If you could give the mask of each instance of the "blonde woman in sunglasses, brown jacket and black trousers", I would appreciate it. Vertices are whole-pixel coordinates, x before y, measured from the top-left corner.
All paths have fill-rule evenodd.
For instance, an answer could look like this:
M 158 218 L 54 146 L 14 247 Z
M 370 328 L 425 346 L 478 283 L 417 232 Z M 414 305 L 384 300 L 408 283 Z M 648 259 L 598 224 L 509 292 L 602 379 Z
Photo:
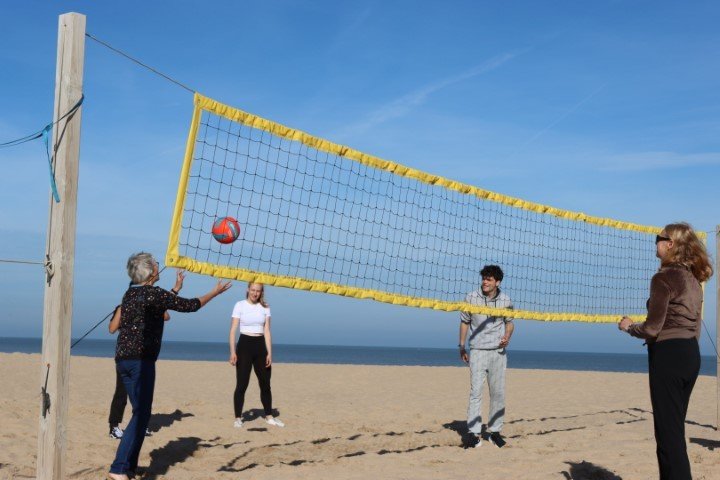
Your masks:
M 691 479 L 685 416 L 700 371 L 701 283 L 712 274 L 705 245 L 687 223 L 667 225 L 655 237 L 660 270 L 650 282 L 644 322 L 623 317 L 618 327 L 648 347 L 650 401 L 660 479 Z

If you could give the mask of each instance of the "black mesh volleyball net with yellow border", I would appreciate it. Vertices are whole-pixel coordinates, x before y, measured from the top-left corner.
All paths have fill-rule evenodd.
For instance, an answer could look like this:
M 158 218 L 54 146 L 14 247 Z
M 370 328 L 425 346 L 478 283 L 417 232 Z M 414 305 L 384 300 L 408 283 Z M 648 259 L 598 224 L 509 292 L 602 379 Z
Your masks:
M 268 285 L 546 320 L 644 318 L 659 227 L 483 190 L 195 94 L 165 263 Z M 237 219 L 239 238 L 214 240 Z M 499 265 L 513 311 L 465 302 Z

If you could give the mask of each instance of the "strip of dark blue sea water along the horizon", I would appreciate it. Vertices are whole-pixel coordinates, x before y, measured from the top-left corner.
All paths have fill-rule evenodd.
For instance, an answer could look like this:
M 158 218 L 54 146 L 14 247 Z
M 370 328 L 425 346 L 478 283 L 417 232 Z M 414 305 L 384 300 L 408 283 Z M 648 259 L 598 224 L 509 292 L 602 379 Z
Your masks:
M 0 337 L 0 352 L 40 353 L 39 338 Z M 83 340 L 72 355 L 107 357 L 115 355 L 114 340 Z M 160 359 L 208 360 L 225 362 L 227 343 L 163 342 Z M 407 347 L 349 347 L 333 345 L 273 345 L 273 361 L 277 363 L 329 363 L 348 365 L 411 365 L 447 367 L 463 364 L 456 349 Z M 582 370 L 600 372 L 647 372 L 644 353 L 582 353 L 509 350 L 509 368 L 543 370 Z M 702 357 L 701 375 L 716 372 L 715 358 Z

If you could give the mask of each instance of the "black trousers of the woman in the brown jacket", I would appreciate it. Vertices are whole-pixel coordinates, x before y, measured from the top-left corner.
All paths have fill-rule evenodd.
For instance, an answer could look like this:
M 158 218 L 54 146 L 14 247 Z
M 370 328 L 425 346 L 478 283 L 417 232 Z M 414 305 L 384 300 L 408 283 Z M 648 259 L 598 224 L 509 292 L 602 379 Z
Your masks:
M 689 480 L 685 416 L 700 371 L 700 349 L 694 338 L 648 345 L 650 400 L 661 480 Z

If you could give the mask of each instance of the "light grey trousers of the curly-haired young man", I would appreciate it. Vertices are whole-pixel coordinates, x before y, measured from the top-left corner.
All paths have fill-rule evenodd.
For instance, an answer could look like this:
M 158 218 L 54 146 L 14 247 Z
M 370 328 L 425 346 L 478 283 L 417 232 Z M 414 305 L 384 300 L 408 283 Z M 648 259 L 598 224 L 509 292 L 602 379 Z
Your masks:
M 482 430 L 482 393 L 485 378 L 490 391 L 490 419 L 488 432 L 499 432 L 505 417 L 505 349 L 470 350 L 470 400 L 468 402 L 468 430 L 480 435 Z

